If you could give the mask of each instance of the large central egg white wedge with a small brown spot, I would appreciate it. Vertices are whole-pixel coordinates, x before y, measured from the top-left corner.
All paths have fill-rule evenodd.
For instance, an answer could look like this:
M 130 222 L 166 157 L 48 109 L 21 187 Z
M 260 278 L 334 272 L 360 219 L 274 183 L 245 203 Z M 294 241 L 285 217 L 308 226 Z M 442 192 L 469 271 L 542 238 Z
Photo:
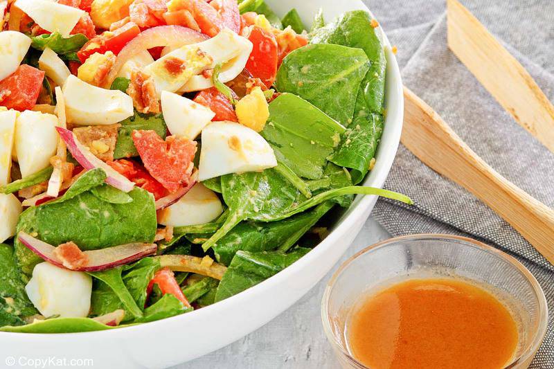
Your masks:
M 249 127 L 233 122 L 213 122 L 202 130 L 199 181 L 276 165 L 277 159 L 269 143 Z

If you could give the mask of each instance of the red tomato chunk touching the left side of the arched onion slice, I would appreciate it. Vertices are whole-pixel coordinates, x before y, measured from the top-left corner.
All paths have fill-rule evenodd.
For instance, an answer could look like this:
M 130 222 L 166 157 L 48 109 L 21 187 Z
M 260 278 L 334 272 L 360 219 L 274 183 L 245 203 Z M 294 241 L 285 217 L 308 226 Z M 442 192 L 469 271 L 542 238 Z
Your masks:
M 141 33 L 139 26 L 133 22 L 128 22 L 113 32 L 104 32 L 102 35 L 89 39 L 77 52 L 77 57 L 84 63 L 93 53 L 103 54 L 106 51 L 111 51 L 118 55 L 127 42 L 134 39 L 139 33 Z

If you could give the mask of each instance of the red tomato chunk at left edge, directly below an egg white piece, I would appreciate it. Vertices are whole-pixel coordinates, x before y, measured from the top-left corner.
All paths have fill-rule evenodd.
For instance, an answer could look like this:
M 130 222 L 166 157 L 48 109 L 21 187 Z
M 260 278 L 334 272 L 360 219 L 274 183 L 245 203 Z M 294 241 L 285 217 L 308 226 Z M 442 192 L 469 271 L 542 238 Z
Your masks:
M 0 81 L 0 105 L 24 111 L 37 103 L 44 72 L 22 64 L 14 73 Z

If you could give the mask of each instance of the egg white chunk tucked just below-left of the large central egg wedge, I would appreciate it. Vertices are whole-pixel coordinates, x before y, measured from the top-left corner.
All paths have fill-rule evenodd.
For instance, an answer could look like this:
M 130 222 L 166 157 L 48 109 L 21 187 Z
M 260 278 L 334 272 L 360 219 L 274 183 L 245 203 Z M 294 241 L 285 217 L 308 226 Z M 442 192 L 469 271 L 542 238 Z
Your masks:
M 193 226 L 211 222 L 223 213 L 220 198 L 202 183 L 181 197 L 177 203 L 160 210 L 158 223 L 164 226 Z

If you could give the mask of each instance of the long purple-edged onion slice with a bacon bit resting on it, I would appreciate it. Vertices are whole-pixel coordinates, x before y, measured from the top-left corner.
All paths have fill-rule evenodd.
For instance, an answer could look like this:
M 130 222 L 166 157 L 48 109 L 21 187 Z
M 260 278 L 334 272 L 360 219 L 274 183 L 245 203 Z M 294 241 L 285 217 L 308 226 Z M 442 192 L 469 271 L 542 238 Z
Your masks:
M 18 240 L 24 244 L 30 251 L 37 254 L 40 258 L 54 264 L 56 267 L 68 269 L 64 267 L 62 261 L 55 255 L 55 247 L 47 244 L 44 241 L 29 235 L 25 232 L 17 234 Z M 87 255 L 87 264 L 83 267 L 71 269 L 73 271 L 102 271 L 119 267 L 129 262 L 145 258 L 146 256 L 154 255 L 157 251 L 156 244 L 132 243 L 122 244 L 119 246 L 108 247 L 106 249 L 84 251 Z

